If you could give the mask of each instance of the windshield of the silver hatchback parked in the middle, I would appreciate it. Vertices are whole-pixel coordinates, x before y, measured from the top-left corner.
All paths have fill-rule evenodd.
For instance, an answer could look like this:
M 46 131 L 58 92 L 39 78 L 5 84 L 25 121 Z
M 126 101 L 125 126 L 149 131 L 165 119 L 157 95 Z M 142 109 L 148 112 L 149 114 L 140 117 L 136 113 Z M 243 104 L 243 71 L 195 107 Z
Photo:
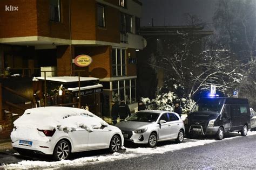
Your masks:
M 137 112 L 127 118 L 127 121 L 156 122 L 160 114 L 154 112 Z

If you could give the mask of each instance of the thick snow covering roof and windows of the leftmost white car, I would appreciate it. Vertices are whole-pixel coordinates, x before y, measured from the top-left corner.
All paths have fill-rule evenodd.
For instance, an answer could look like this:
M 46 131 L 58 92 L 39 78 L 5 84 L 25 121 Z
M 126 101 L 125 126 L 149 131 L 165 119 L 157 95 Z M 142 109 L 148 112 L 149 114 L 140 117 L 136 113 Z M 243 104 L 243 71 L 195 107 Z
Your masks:
M 16 128 L 31 128 L 39 130 L 76 130 L 84 128 L 89 132 L 108 125 L 103 119 L 91 112 L 69 107 L 42 107 L 28 109 L 15 122 Z

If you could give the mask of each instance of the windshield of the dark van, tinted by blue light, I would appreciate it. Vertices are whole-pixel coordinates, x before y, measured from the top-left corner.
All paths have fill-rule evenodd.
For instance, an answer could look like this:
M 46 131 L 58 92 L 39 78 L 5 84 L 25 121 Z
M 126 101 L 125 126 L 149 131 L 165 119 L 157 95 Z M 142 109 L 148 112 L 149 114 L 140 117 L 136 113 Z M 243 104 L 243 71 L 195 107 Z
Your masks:
M 191 112 L 200 112 L 203 114 L 220 114 L 223 104 L 223 98 L 200 98 L 200 100 L 194 105 Z

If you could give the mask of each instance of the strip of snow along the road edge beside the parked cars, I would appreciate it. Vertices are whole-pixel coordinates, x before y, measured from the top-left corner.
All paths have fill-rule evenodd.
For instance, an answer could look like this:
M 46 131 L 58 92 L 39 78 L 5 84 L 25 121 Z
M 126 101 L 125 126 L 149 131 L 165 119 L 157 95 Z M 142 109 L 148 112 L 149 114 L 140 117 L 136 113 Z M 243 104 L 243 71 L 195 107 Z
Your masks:
M 249 131 L 248 136 L 256 135 L 256 131 Z M 240 138 L 241 136 L 229 137 L 223 140 L 230 140 L 233 138 Z M 184 143 L 181 144 L 169 144 L 158 146 L 155 148 L 149 147 L 138 147 L 138 148 L 127 148 L 124 153 L 113 153 L 113 154 L 103 154 L 100 156 L 92 156 L 92 157 L 83 157 L 74 160 L 61 160 L 61 161 L 30 161 L 24 160 L 18 162 L 18 164 L 10 164 L 5 165 L 3 168 L 5 169 L 17 169 L 17 168 L 51 168 L 51 167 L 63 167 L 63 166 L 82 166 L 85 164 L 97 164 L 97 162 L 105 162 L 105 161 L 114 161 L 119 159 L 129 159 L 134 157 L 140 157 L 143 155 L 149 154 L 163 154 L 165 152 L 181 150 L 183 148 L 194 147 L 194 146 L 201 146 L 205 144 L 210 144 L 214 142 L 221 142 L 221 140 L 215 139 L 185 139 Z

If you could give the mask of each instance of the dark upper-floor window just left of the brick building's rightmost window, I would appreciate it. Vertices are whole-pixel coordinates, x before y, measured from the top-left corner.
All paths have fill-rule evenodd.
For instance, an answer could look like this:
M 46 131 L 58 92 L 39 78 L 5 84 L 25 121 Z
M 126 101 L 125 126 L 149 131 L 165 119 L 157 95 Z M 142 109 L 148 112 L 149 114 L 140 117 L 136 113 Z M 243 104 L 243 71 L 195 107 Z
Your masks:
M 120 16 L 120 32 L 125 34 L 132 33 L 132 16 L 121 13 Z

